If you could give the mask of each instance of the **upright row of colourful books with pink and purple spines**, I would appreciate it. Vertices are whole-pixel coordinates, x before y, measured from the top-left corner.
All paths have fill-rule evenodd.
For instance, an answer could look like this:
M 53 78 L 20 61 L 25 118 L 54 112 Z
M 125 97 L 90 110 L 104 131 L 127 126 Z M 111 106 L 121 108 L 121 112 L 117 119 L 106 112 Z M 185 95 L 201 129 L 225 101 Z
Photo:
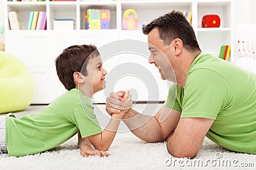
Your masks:
M 30 11 L 27 29 L 28 30 L 46 30 L 46 12 Z

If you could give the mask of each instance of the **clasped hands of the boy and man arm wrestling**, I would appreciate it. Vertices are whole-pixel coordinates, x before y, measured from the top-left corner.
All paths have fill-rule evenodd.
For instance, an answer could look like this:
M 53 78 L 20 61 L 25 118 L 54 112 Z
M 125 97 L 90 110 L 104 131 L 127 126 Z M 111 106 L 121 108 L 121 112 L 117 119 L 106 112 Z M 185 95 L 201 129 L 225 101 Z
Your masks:
M 132 97 L 129 90 L 112 92 L 106 99 L 106 111 L 109 115 L 113 113 L 125 113 L 132 107 Z

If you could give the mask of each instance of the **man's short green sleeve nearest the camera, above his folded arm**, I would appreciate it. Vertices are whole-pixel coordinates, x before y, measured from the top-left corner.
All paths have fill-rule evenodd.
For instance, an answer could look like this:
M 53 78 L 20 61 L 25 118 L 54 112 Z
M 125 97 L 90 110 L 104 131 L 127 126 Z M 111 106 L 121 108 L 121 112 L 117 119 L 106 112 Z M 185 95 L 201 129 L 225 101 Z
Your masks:
M 230 97 L 227 81 L 209 69 L 197 69 L 189 75 L 184 87 L 182 118 L 216 119 Z

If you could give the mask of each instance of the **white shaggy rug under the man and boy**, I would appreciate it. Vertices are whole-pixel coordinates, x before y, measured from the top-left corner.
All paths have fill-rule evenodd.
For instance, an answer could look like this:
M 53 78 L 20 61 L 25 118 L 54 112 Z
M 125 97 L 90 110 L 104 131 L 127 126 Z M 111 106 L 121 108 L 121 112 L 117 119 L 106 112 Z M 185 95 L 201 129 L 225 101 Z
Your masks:
M 166 143 L 146 143 L 131 132 L 117 133 L 109 157 L 81 157 L 77 136 L 47 152 L 25 157 L 0 155 L 0 169 L 255 169 L 256 155 L 229 152 L 205 138 L 194 159 L 177 159 Z

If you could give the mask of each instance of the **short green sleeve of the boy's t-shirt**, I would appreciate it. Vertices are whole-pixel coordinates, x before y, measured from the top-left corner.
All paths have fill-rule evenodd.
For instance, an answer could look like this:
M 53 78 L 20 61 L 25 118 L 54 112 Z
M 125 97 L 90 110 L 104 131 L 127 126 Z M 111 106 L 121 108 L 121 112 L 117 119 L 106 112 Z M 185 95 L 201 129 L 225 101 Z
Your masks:
M 76 124 L 82 138 L 99 134 L 102 129 L 96 115 L 93 113 L 93 106 L 90 104 L 77 105 L 70 114 L 71 121 Z

